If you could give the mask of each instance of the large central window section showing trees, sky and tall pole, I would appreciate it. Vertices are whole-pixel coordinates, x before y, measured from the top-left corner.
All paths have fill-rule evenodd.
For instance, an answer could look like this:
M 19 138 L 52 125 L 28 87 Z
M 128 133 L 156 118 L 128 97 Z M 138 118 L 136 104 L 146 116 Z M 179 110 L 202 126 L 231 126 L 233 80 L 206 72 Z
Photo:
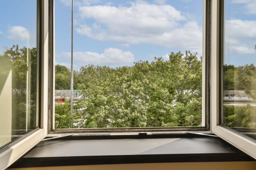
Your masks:
M 202 0 L 55 0 L 55 128 L 201 126 Z

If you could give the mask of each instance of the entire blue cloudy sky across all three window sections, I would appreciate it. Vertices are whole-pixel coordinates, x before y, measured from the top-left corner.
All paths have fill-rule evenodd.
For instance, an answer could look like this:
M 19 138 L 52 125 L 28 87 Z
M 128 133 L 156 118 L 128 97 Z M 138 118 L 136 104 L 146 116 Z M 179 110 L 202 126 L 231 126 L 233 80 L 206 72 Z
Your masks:
M 132 66 L 186 50 L 199 58 L 202 1 L 74 0 L 74 69 Z M 35 0 L 1 4 L 0 53 L 13 44 L 36 47 L 35 5 Z M 256 65 L 255 9 L 255 0 L 226 0 L 225 64 Z M 55 64 L 70 68 L 71 0 L 55 0 L 55 47 Z

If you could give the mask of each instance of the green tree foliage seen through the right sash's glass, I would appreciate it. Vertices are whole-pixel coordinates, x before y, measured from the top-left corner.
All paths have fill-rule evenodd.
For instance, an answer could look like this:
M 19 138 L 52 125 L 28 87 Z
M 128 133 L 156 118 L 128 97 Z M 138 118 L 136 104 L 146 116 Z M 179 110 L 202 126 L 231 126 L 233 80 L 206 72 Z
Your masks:
M 224 65 L 223 83 L 224 90 L 243 90 L 248 97 L 256 100 L 256 67 L 253 64 L 238 67 Z M 250 103 L 247 106 L 224 105 L 223 116 L 226 126 L 256 128 L 256 107 Z

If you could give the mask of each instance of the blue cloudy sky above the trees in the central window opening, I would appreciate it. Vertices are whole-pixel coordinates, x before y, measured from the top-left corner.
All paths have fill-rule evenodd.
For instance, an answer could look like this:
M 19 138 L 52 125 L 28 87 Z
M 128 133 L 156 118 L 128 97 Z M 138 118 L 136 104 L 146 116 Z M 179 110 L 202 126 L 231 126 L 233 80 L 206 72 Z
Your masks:
M 202 54 L 202 0 L 74 3 L 75 69 L 86 64 L 131 66 L 139 60 L 152 61 L 154 56 L 167 58 L 172 51 Z M 56 64 L 68 67 L 70 8 L 70 0 L 55 1 Z

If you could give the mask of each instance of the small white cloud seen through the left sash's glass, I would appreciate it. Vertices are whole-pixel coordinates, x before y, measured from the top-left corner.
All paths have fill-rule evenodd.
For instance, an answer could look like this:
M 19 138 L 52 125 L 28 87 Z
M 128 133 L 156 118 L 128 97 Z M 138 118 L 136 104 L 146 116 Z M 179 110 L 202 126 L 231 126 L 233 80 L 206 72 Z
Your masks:
M 9 35 L 7 36 L 9 39 L 21 40 L 24 41 L 30 37 L 29 32 L 25 27 L 22 26 L 12 26 L 8 29 Z

